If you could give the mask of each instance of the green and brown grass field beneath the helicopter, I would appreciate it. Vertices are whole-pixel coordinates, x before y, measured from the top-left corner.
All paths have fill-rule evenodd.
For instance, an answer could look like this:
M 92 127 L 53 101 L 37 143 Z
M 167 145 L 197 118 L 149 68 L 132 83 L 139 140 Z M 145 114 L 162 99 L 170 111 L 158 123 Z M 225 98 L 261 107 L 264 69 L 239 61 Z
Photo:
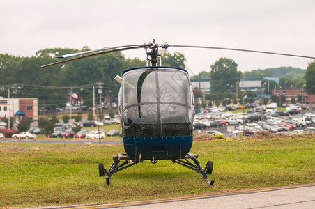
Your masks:
M 98 176 L 123 145 L 0 143 L 0 208 L 105 203 L 315 182 L 315 139 L 293 137 L 242 141 L 194 141 L 203 166 L 214 163 L 215 185 L 170 160 L 140 164 Z

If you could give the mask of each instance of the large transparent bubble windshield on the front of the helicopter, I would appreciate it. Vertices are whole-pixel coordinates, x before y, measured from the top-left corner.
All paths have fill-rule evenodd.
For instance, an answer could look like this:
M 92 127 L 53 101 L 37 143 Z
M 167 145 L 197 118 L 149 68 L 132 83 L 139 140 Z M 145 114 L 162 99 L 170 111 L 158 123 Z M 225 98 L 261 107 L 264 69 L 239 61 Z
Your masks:
M 129 137 L 192 134 L 188 75 L 174 68 L 141 68 L 123 75 L 123 129 Z

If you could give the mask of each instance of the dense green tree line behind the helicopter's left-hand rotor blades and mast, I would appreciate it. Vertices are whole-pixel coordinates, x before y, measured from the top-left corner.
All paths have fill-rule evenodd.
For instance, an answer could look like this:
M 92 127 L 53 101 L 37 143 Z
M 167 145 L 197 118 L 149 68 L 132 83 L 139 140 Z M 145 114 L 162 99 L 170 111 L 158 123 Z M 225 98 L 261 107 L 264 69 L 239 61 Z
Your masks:
M 4 98 L 38 98 L 39 107 L 65 107 L 70 100 L 70 90 L 78 95 L 77 100 L 92 107 L 92 86 L 97 95 L 98 82 L 102 82 L 103 97 L 116 97 L 119 86 L 114 77 L 128 68 L 146 66 L 141 59 L 125 59 L 121 52 L 72 61 L 63 65 L 40 68 L 54 63 L 54 56 L 90 50 L 54 48 L 43 49 L 35 56 L 21 57 L 0 54 L 0 95 Z M 185 56 L 178 52 L 162 53 L 163 65 L 185 68 Z M 72 98 L 76 100 L 75 98 Z

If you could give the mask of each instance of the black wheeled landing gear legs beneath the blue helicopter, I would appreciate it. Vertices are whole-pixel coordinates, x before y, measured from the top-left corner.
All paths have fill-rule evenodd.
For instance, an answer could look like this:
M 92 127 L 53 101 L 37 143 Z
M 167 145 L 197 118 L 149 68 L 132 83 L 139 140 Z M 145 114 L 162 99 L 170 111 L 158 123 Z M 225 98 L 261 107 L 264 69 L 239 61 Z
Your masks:
M 188 153 L 184 157 L 185 161 L 181 160 L 181 159 L 172 159 L 171 161 L 173 163 L 180 164 L 183 167 L 186 167 L 187 169 L 191 169 L 192 171 L 196 171 L 197 173 L 200 173 L 201 176 L 203 176 L 203 179 L 206 180 L 206 183 L 208 185 L 213 185 L 215 183 L 215 180 L 209 181 L 208 177 L 207 177 L 207 174 L 211 174 L 213 171 L 213 162 L 208 161 L 205 169 L 203 169 L 203 167 L 201 167 L 200 162 L 197 160 L 197 157 L 198 157 L 197 155 L 194 155 L 192 153 Z M 117 173 L 118 171 L 122 171 L 124 169 L 128 169 L 129 167 L 132 167 L 133 165 L 142 161 L 142 160 L 141 161 L 140 160 L 132 160 L 126 154 L 115 155 L 115 156 L 113 156 L 113 160 L 114 160 L 114 162 L 112 163 L 109 171 L 104 169 L 104 164 L 102 164 L 102 163 L 98 164 L 98 172 L 99 172 L 100 176 L 107 175 L 106 176 L 106 184 L 107 185 L 109 185 L 110 178 L 112 177 L 112 175 L 114 173 Z M 124 162 L 121 163 L 121 161 L 123 161 L 123 160 L 124 160 Z M 194 162 L 194 164 L 192 164 L 192 162 L 190 162 L 189 160 L 192 160 Z M 131 164 L 128 164 L 130 162 L 131 162 Z M 151 162 L 156 163 L 157 160 L 156 160 L 156 162 L 151 160 Z

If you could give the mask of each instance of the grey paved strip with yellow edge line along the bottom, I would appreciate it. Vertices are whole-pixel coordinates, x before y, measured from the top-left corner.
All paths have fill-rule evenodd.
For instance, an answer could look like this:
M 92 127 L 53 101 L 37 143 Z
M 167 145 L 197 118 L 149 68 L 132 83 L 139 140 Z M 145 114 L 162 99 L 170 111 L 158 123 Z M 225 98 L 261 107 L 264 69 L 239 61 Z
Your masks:
M 130 201 L 65 208 L 125 208 L 125 209 L 188 209 L 188 208 L 315 208 L 315 183 L 254 189 L 225 194 L 185 196 L 150 201 Z

